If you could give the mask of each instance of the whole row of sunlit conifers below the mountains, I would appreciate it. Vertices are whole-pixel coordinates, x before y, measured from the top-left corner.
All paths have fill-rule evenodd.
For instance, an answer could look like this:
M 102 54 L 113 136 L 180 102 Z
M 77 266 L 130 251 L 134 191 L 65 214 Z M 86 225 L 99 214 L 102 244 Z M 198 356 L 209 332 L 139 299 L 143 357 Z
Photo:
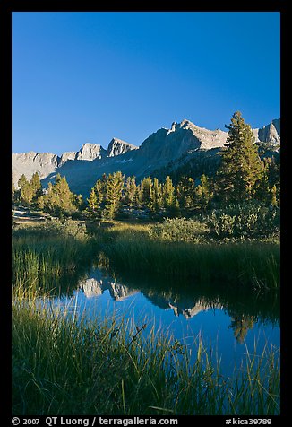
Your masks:
M 226 147 L 222 151 L 215 176 L 202 174 L 200 179 L 182 176 L 177 184 L 167 176 L 162 182 L 146 177 L 125 177 L 121 171 L 104 174 L 83 200 L 70 190 L 65 177 L 59 174 L 46 190 L 38 173 L 30 181 L 24 175 L 13 187 L 13 202 L 37 207 L 51 213 L 83 212 L 91 217 L 113 219 L 121 209 L 133 213 L 148 212 L 153 217 L 187 215 L 206 211 L 214 205 L 230 205 L 253 200 L 264 205 L 279 206 L 279 162 L 273 157 L 261 159 L 251 126 L 245 124 L 239 111 L 231 118 Z

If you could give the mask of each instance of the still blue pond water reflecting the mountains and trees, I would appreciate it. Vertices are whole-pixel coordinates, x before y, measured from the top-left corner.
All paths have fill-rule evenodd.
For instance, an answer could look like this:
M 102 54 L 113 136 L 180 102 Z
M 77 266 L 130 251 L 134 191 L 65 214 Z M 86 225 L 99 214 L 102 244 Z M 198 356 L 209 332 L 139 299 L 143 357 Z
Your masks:
M 107 274 L 92 268 L 51 298 L 69 316 L 99 322 L 130 321 L 133 327 L 167 331 L 189 349 L 198 335 L 230 375 L 245 354 L 279 348 L 279 294 L 238 290 L 224 283 L 179 282 L 145 275 Z M 193 352 L 193 362 L 195 352 Z

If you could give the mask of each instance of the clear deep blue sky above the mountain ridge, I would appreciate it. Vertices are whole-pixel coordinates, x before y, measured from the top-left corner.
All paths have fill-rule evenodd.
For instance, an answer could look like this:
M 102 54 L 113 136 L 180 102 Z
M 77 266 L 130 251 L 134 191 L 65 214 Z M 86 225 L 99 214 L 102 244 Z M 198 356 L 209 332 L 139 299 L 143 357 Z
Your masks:
M 279 13 L 13 13 L 13 152 L 279 118 Z

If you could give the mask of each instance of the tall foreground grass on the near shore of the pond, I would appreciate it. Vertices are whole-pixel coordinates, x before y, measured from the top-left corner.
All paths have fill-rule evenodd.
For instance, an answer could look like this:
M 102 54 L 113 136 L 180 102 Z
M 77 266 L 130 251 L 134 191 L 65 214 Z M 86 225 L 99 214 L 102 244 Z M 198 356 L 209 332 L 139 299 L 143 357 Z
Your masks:
M 142 325 L 114 319 L 76 324 L 37 298 L 13 290 L 14 415 L 279 414 L 274 349 L 247 354 L 224 378 L 199 337 L 191 365 L 170 335 L 149 331 L 145 340 Z

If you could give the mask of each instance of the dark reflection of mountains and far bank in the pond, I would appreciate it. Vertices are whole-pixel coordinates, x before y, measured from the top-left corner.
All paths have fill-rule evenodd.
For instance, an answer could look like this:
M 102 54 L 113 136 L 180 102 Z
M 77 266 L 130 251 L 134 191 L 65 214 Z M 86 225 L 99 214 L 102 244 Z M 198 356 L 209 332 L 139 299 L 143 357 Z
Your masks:
M 86 298 L 96 298 L 108 291 L 113 301 L 125 301 L 142 293 L 151 305 L 172 309 L 176 317 L 193 318 L 202 311 L 221 309 L 232 318 L 231 327 L 243 319 L 246 323 L 247 318 L 252 319 L 251 324 L 260 321 L 279 326 L 279 292 L 245 292 L 235 288 L 222 283 L 177 283 L 150 275 L 110 275 L 99 269 L 92 269 L 77 286 Z

